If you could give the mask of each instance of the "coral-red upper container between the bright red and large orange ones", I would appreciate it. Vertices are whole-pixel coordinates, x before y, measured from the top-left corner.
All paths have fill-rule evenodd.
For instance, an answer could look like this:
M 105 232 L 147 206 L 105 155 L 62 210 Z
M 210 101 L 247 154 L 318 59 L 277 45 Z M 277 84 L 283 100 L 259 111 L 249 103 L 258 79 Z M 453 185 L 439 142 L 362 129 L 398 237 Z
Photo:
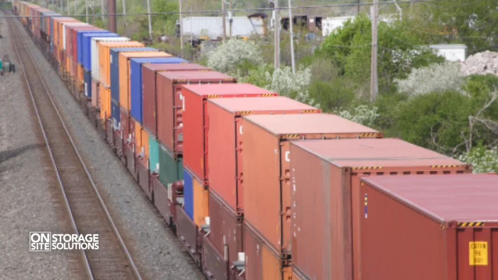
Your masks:
M 216 154 L 209 157 L 209 187 L 239 214 L 244 209 L 242 116 L 322 112 L 284 96 L 210 99 L 207 109 L 208 154 Z

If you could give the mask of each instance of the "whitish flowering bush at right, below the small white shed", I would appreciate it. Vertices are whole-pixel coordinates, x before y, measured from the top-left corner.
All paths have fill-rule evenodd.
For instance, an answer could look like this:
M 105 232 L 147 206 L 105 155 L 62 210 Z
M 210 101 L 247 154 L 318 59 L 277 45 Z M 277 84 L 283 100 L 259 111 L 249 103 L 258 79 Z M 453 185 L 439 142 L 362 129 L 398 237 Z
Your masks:
M 465 74 L 457 63 L 446 62 L 413 69 L 404 80 L 394 79 L 400 92 L 420 95 L 435 91 L 462 91 Z

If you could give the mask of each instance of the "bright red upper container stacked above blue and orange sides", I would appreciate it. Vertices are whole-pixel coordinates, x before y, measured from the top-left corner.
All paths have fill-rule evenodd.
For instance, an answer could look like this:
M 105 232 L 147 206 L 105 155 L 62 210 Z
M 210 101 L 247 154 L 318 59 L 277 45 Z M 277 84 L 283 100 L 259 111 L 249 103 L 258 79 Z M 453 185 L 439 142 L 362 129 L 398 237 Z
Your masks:
M 251 84 L 184 85 L 183 106 L 183 165 L 208 185 L 208 98 L 262 97 L 278 94 Z M 160 109 L 159 109 L 160 110 Z

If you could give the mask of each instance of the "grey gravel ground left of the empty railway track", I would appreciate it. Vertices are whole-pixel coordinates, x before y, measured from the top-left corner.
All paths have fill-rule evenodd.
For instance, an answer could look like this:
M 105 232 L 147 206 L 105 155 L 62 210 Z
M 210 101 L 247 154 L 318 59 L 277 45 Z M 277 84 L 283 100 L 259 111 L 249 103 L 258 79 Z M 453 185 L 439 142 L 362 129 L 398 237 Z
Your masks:
M 29 232 L 73 232 L 5 20 L 1 28 L 0 58 L 16 72 L 0 76 L 0 279 L 84 279 L 78 252 L 29 251 Z

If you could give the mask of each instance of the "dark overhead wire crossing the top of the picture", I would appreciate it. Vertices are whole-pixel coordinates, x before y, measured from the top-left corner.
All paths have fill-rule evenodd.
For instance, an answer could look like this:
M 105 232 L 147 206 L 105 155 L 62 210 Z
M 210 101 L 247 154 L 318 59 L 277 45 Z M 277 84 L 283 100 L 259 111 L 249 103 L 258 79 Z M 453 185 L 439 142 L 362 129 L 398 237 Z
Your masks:
M 423 2 L 440 2 L 441 0 L 397 0 L 397 1 L 387 1 L 382 2 L 382 4 L 395 4 L 395 3 L 423 3 Z M 342 3 L 342 4 L 329 4 L 329 5 L 311 5 L 311 6 L 292 6 L 291 9 L 316 9 L 316 8 L 333 8 L 333 7 L 355 7 L 355 6 L 371 6 L 373 3 Z M 278 7 L 278 8 L 241 8 L 241 9 L 231 9 L 231 11 L 272 11 L 272 10 L 288 10 L 289 7 Z M 182 11 L 182 14 L 193 14 L 193 13 L 221 13 L 223 10 L 197 10 L 197 11 Z M 158 15 L 158 14 L 179 14 L 179 11 L 168 11 L 168 12 L 143 12 L 143 13 L 94 13 L 89 15 Z M 74 15 L 60 15 L 60 17 L 73 17 L 73 16 L 86 16 L 85 14 L 74 14 Z M 35 15 L 35 16 L 18 16 L 18 15 L 2 15 L 1 17 L 46 17 L 43 15 Z

